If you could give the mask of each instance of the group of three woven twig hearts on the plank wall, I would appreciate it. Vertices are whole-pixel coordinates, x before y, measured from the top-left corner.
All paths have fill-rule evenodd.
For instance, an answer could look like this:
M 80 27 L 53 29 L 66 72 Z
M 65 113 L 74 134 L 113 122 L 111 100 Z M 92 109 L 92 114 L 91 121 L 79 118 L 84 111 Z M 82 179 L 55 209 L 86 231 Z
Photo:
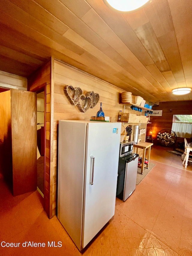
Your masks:
M 89 108 L 94 108 L 99 101 L 99 94 L 95 92 L 86 92 L 85 95 L 80 87 L 74 88 L 72 85 L 67 85 L 64 88 L 64 93 L 72 105 L 85 113 Z

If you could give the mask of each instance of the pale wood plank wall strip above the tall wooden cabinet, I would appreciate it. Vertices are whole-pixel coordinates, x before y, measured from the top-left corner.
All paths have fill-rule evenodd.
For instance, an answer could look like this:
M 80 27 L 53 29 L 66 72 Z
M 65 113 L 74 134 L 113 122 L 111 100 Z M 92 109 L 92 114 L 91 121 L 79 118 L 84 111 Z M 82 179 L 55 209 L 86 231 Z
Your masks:
M 27 91 L 27 78 L 0 71 L 0 87 Z

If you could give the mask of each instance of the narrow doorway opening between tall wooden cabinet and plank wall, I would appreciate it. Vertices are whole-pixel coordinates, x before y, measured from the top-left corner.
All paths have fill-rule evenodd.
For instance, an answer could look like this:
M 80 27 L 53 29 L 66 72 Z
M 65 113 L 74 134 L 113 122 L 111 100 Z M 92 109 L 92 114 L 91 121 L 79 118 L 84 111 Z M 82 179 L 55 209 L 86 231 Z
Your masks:
M 37 92 L 37 190 L 44 197 L 45 92 Z

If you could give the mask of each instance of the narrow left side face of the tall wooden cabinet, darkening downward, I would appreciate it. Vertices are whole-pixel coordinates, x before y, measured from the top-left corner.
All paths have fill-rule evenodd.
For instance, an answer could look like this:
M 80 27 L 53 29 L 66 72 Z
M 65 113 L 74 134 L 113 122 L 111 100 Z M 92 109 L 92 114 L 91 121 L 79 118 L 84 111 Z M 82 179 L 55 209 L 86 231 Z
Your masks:
M 0 93 L 0 171 L 12 189 L 13 171 L 10 90 Z

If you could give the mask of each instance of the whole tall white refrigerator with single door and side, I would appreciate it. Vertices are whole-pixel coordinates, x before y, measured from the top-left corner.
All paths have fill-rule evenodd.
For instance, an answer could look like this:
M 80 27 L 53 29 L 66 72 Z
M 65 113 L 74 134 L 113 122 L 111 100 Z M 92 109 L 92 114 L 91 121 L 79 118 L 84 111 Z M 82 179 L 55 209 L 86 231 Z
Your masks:
M 115 213 L 121 123 L 58 129 L 58 219 L 81 251 Z

